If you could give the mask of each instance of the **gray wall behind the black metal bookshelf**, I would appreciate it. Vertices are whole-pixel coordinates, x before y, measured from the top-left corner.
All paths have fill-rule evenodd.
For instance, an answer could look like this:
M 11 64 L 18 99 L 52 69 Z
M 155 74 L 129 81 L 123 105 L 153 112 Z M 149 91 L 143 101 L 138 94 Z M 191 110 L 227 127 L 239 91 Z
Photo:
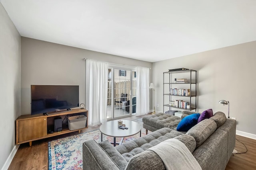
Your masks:
M 184 49 L 186 49 L 184 47 Z M 212 108 L 236 117 L 237 130 L 256 134 L 256 41 L 153 63 L 156 104 L 163 111 L 163 72 L 172 68 L 198 71 L 198 111 Z M 165 103 L 167 104 L 167 103 Z

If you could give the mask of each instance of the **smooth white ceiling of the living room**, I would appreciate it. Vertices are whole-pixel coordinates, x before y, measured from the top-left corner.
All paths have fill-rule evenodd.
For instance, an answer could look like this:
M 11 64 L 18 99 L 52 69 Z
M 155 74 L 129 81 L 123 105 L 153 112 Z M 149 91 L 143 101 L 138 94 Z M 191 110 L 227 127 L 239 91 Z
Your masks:
M 0 0 L 23 37 L 156 62 L 256 40 L 256 0 Z

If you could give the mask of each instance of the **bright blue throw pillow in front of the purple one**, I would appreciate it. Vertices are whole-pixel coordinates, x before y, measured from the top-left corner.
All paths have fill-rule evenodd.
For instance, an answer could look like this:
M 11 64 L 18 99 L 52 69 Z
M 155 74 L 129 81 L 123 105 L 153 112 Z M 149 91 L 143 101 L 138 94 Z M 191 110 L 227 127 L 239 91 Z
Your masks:
M 188 131 L 191 127 L 196 125 L 200 113 L 194 113 L 184 117 L 177 126 L 177 131 Z

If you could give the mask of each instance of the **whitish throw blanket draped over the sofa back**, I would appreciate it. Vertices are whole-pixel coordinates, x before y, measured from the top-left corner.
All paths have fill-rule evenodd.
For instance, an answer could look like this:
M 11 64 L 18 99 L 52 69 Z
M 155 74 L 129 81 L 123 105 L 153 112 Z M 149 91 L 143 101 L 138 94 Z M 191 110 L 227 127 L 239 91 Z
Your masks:
M 167 139 L 148 150 L 158 154 L 166 170 L 202 170 L 186 145 L 178 139 Z

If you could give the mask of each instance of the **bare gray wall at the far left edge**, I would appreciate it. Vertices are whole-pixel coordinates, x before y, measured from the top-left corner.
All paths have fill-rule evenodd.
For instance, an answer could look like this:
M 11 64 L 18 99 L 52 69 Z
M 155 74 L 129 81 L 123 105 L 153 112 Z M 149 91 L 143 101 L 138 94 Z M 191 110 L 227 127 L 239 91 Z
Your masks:
M 20 34 L 0 3 L 0 169 L 15 145 L 20 115 Z

